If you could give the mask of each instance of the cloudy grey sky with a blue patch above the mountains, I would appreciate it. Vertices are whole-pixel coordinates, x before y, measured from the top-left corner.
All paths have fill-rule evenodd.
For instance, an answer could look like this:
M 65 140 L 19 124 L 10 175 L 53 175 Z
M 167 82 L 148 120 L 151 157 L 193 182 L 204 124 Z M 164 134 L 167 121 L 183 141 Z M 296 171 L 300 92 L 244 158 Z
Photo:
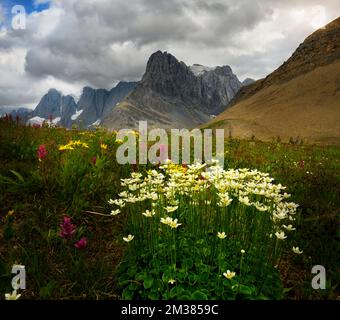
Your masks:
M 0 107 L 139 80 L 157 50 L 259 79 L 339 15 L 339 0 L 0 0 Z

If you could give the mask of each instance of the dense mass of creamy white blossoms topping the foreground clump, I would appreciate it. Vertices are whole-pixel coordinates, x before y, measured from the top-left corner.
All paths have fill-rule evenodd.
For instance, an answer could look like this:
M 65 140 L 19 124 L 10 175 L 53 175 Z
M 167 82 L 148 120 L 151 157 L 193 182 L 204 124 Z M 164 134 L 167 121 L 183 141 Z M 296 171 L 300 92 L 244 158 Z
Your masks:
M 109 201 L 118 207 L 112 215 L 118 214 L 128 203 L 151 201 L 152 211 L 143 212 L 144 217 L 151 218 L 155 215 L 154 208 L 162 203 L 157 211 L 161 223 L 177 228 L 181 225 L 178 220 L 167 215 L 179 210 L 179 198 L 186 198 L 187 204 L 194 207 L 216 203 L 221 210 L 226 210 L 234 203 L 234 206 L 269 214 L 274 225 L 272 232 L 279 240 L 287 238 L 283 230 L 295 230 L 291 222 L 295 220 L 298 205 L 286 201 L 290 195 L 284 192 L 285 187 L 274 184 L 267 173 L 250 169 L 224 170 L 217 162 L 210 166 L 200 163 L 180 166 L 170 160 L 160 169 L 149 170 L 145 177 L 134 172 L 130 178 L 121 179 L 125 190 L 119 194 L 119 199 Z M 218 236 L 223 239 L 226 234 Z

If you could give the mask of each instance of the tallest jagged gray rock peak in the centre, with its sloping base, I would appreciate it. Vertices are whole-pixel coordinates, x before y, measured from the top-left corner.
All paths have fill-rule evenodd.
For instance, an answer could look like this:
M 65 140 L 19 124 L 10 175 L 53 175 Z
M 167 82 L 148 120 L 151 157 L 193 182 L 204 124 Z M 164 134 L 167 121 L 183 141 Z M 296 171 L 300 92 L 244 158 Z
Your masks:
M 109 128 L 190 128 L 225 109 L 242 84 L 229 66 L 188 67 L 167 52 L 151 55 L 142 81 L 107 117 Z

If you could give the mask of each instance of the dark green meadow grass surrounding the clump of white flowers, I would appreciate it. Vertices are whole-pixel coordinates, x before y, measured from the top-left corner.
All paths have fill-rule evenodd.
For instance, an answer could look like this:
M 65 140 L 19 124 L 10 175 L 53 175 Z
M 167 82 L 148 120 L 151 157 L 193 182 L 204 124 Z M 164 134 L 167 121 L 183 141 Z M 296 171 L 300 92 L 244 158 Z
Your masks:
M 89 148 L 59 151 L 59 146 L 70 140 L 86 142 Z M 38 161 L 41 144 L 48 154 Z M 24 299 L 121 299 L 139 290 L 145 279 L 149 286 L 151 280 L 143 265 L 139 264 L 140 270 L 136 271 L 139 280 L 136 272 L 130 278 L 121 276 L 121 270 L 128 268 L 124 261 L 136 257 L 122 240 L 129 226 L 127 216 L 111 217 L 107 201 L 118 198 L 123 190 L 121 178 L 133 171 L 145 173 L 151 166 L 118 165 L 116 148 L 114 135 L 101 130 L 84 133 L 0 122 L 1 298 L 11 291 L 13 264 L 26 266 Z M 287 186 L 291 201 L 300 205 L 294 241 L 304 253 L 282 257 L 279 275 L 286 288 L 284 298 L 336 299 L 340 294 L 340 148 L 226 140 L 225 150 L 226 169 L 268 172 L 275 183 Z M 10 210 L 14 214 L 7 216 Z M 71 241 L 59 236 L 59 224 L 65 215 L 72 217 L 77 227 Z M 83 236 L 88 238 L 88 246 L 75 249 L 74 243 Z M 314 265 L 327 270 L 326 290 L 311 287 Z M 135 289 L 131 287 L 124 293 L 122 283 L 132 278 L 137 279 L 131 284 Z M 190 281 L 198 291 L 190 294 L 206 295 L 207 289 L 197 283 L 200 279 L 192 275 Z M 208 281 L 213 286 L 209 276 Z M 173 290 L 171 294 L 172 288 L 166 289 L 168 298 L 180 294 L 191 297 L 186 288 L 184 293 L 176 289 L 178 292 Z M 144 298 L 156 298 L 148 294 Z

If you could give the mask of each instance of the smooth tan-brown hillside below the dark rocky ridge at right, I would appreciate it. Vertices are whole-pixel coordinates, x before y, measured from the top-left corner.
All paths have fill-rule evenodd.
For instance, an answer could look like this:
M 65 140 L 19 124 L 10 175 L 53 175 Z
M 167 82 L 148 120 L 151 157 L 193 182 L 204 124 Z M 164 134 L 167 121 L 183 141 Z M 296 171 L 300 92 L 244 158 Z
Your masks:
M 208 124 L 239 138 L 340 143 L 340 61 L 241 100 Z

